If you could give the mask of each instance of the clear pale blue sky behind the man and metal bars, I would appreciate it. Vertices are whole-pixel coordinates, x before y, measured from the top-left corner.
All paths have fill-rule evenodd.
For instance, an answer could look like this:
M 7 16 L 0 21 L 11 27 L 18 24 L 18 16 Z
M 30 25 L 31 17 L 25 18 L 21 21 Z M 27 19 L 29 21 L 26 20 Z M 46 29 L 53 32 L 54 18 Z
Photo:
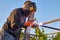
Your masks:
M 15 8 L 21 8 L 26 0 L 0 0 L 0 29 L 7 20 L 11 11 Z M 60 18 L 60 0 L 30 0 L 36 3 L 37 11 L 35 18 L 38 22 L 46 22 L 56 18 Z M 60 28 L 60 21 L 47 24 L 48 26 Z M 42 27 L 40 27 L 42 28 Z M 45 33 L 57 32 L 44 28 Z

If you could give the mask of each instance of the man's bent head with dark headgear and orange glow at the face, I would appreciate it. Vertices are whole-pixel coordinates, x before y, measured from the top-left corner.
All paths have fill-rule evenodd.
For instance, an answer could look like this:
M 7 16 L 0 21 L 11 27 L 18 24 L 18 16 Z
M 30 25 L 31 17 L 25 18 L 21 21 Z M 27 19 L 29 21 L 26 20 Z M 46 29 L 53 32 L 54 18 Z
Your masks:
M 23 9 L 28 10 L 30 12 L 36 12 L 36 4 L 31 1 L 26 1 L 23 5 Z

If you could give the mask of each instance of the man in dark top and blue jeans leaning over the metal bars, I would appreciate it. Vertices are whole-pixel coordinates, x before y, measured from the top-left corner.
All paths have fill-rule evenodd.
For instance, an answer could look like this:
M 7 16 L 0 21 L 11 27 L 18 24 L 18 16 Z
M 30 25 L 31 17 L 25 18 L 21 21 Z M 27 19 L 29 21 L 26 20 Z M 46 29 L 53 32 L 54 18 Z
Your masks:
M 33 19 L 34 12 L 36 12 L 36 4 L 31 1 L 26 1 L 22 8 L 14 9 L 3 25 L 2 40 L 19 40 L 21 28 L 31 24 L 27 25 L 26 18 L 28 17 L 28 21 Z

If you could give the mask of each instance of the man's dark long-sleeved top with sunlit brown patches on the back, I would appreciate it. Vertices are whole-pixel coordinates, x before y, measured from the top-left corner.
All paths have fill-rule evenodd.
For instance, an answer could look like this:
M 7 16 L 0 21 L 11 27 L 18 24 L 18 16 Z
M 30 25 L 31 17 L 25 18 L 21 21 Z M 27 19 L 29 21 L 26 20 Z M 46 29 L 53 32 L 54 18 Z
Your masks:
M 6 32 L 12 34 L 15 37 L 19 37 L 21 27 L 24 27 L 26 15 L 22 8 L 17 8 L 11 12 L 7 21 L 3 25 Z

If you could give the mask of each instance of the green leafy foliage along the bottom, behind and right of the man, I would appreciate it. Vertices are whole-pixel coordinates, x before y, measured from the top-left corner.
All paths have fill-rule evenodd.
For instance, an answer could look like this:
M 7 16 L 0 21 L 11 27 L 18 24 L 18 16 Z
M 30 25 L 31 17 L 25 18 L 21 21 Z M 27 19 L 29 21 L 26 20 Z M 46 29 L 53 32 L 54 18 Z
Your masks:
M 44 29 L 40 30 L 39 28 L 33 28 L 35 30 L 35 34 L 30 35 L 30 40 L 47 40 L 47 35 L 44 34 Z M 24 33 L 21 31 L 20 40 L 23 40 Z M 51 38 L 52 40 L 60 40 L 60 33 Z

